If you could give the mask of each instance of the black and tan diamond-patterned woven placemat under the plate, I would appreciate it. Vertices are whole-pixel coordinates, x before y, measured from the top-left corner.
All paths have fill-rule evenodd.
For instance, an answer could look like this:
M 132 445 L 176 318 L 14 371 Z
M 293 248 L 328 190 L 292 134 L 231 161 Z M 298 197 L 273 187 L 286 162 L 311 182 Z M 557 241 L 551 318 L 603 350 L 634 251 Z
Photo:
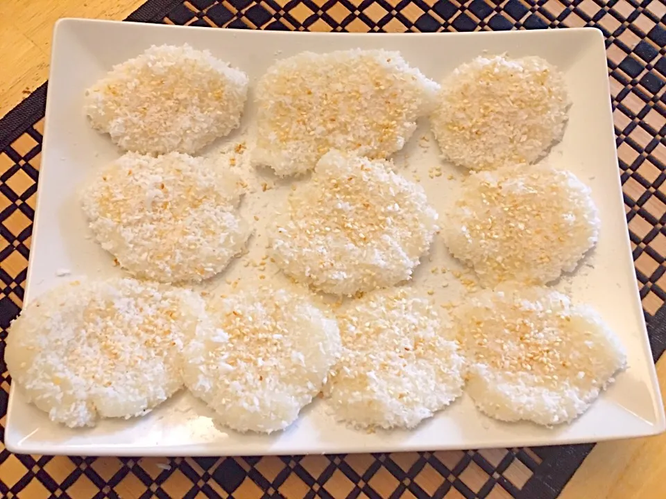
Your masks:
M 133 21 L 357 32 L 595 26 L 606 37 L 636 274 L 656 360 L 666 342 L 666 5 L 663 0 L 150 0 Z M 46 85 L 0 120 L 0 358 L 22 304 Z M 0 432 L 10 378 L 0 360 Z M 45 457 L 0 449 L 0 496 L 555 498 L 592 448 L 240 458 Z

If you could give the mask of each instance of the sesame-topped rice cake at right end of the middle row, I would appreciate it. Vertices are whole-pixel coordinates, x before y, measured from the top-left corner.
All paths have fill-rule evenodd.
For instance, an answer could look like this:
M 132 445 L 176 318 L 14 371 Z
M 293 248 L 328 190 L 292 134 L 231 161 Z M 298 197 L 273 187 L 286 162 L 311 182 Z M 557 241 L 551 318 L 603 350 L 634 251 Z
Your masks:
M 450 252 L 486 286 L 543 284 L 572 272 L 601 224 L 590 188 L 544 164 L 472 173 L 443 220 Z

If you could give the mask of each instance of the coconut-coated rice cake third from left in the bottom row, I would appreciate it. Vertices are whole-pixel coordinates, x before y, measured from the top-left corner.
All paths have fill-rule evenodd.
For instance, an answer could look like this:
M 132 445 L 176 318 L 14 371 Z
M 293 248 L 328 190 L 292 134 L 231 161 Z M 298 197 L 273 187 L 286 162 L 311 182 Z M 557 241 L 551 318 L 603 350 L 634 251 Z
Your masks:
M 462 394 L 465 362 L 425 298 L 381 290 L 338 317 L 343 351 L 327 386 L 334 417 L 355 428 L 414 428 Z

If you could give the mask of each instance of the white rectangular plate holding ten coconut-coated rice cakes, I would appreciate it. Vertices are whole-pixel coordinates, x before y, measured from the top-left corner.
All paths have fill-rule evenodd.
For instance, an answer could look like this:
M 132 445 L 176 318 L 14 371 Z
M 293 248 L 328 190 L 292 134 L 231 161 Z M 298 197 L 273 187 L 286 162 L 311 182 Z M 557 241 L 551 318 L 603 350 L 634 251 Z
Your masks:
M 572 170 L 592 187 L 602 220 L 597 249 L 574 276 L 562 279 L 558 288 L 569 292 L 574 301 L 594 306 L 603 315 L 626 346 L 629 369 L 618 376 L 617 383 L 586 414 L 568 426 L 548 429 L 530 423 L 501 423 L 481 415 L 472 401 L 463 396 L 416 430 L 373 434 L 334 423 L 322 401 L 317 400 L 284 432 L 270 436 L 239 435 L 214 426 L 210 411 L 186 392 L 140 419 L 102 421 L 96 428 L 70 430 L 51 423 L 46 414 L 26 403 L 20 389 L 12 385 L 5 433 L 8 449 L 17 453 L 70 455 L 350 453 L 565 444 L 653 435 L 665 428 L 624 219 L 606 52 L 597 30 L 341 35 L 62 20 L 56 26 L 53 42 L 26 301 L 56 286 L 62 279 L 56 277 L 59 269 L 91 277 L 120 272 L 113 267 L 112 257 L 90 238 L 78 206 L 76 193 L 89 172 L 120 155 L 108 136 L 94 132 L 86 123 L 83 92 L 113 64 L 138 55 L 152 44 L 165 43 L 188 43 L 197 49 L 208 49 L 246 71 L 252 82 L 274 60 L 305 49 L 398 50 L 409 63 L 435 80 L 441 80 L 454 67 L 484 51 L 506 52 L 511 57 L 540 55 L 555 64 L 565 73 L 573 105 L 565 138 L 549 159 L 556 166 Z M 249 103 L 241 131 L 254 112 L 253 104 Z M 405 161 L 409 163 L 407 167 L 401 166 L 408 177 L 415 175 L 416 170 L 430 201 L 441 209 L 447 194 L 459 185 L 462 173 L 443 165 L 444 175 L 429 179 L 427 170 L 439 161 L 433 141 L 423 147 L 425 141 L 420 140 L 428 133 L 426 121 L 396 162 L 399 166 Z M 449 175 L 456 180 L 449 180 Z M 248 206 L 252 205 L 249 202 Z M 259 249 L 253 249 L 253 254 L 264 252 L 262 246 L 257 241 L 255 247 Z M 434 280 L 429 265 L 456 266 L 441 240 L 434 243 L 432 254 L 434 262 L 425 262 L 419 269 L 417 288 L 441 284 Z M 222 280 L 215 283 L 241 277 L 243 272 L 248 270 L 232 265 Z M 436 287 L 436 300 L 461 296 L 461 286 L 454 281 L 447 288 Z

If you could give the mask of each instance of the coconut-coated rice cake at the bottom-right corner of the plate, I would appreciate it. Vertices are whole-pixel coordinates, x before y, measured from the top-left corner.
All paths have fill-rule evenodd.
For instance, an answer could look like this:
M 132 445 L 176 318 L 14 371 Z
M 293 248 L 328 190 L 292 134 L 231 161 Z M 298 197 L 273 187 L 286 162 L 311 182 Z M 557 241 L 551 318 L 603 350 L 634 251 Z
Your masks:
M 453 314 L 470 362 L 466 391 L 502 421 L 569 423 L 626 367 L 595 310 L 549 288 L 485 290 Z

